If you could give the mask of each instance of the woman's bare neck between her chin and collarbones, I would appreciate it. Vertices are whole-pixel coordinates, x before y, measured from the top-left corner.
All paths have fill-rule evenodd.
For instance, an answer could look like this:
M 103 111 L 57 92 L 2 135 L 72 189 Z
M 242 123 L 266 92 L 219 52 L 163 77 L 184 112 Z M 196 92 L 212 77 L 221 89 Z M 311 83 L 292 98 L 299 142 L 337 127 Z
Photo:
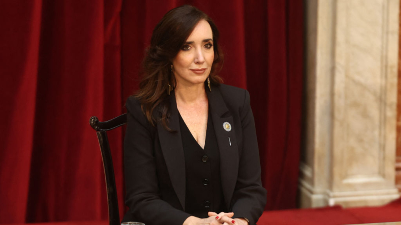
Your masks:
M 205 85 L 191 85 L 191 86 L 180 86 L 174 90 L 176 99 L 186 104 L 196 103 L 207 99 L 205 92 Z

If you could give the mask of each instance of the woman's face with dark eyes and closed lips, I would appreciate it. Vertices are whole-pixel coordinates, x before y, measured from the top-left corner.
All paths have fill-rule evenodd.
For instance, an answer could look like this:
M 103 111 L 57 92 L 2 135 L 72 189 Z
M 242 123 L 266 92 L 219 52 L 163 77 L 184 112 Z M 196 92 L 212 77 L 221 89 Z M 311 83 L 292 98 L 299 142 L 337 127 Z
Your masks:
M 201 20 L 173 59 L 177 87 L 203 84 L 209 76 L 213 60 L 212 29 L 207 21 Z

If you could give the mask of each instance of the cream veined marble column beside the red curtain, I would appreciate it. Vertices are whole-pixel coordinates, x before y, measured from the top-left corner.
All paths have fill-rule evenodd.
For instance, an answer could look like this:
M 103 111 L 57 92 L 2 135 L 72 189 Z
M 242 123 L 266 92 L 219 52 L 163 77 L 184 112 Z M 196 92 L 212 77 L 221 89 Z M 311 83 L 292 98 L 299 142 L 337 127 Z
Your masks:
M 399 0 L 306 0 L 305 11 L 301 207 L 396 199 Z

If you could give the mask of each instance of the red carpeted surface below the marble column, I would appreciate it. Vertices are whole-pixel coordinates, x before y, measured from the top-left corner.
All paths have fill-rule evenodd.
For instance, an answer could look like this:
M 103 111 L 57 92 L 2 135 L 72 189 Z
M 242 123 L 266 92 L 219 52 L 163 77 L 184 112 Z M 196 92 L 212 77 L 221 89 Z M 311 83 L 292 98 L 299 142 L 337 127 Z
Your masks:
M 266 211 L 258 225 L 338 225 L 401 221 L 401 199 L 381 207 L 342 208 L 341 206 Z

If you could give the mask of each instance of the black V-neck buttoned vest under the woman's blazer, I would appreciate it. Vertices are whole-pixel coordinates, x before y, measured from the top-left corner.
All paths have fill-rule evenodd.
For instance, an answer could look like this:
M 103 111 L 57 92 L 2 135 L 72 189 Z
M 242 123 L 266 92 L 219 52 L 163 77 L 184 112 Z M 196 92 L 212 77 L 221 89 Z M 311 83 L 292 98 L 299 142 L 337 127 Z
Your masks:
M 180 130 L 185 155 L 185 211 L 199 218 L 207 212 L 226 211 L 220 179 L 220 154 L 209 112 L 204 149 L 192 136 L 181 115 Z

